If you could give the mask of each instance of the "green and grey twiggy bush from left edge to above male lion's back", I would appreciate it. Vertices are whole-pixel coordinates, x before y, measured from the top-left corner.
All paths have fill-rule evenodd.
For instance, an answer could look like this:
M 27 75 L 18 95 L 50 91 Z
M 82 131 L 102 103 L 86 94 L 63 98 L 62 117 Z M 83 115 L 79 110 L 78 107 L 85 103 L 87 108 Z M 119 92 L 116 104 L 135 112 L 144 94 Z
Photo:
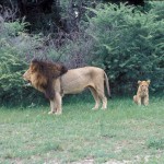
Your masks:
M 86 56 L 90 52 L 90 40 L 83 32 L 51 35 L 30 35 L 25 32 L 25 22 L 5 22 L 0 24 L 0 101 L 17 103 L 25 99 L 40 98 L 39 92 L 33 87 L 25 86 L 22 74 L 28 68 L 33 57 L 49 58 L 65 62 L 69 68 L 85 65 Z M 61 45 L 60 45 L 61 44 Z M 92 47 L 92 46 L 91 46 Z M 82 52 L 83 51 L 83 52 Z

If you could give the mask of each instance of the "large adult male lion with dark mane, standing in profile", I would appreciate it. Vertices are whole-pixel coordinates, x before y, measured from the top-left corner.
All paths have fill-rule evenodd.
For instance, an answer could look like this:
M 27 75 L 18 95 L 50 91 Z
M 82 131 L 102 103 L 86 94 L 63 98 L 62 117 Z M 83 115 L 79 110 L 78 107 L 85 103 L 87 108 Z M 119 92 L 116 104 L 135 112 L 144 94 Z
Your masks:
M 110 95 L 109 83 L 105 71 L 101 68 L 84 67 L 67 70 L 61 65 L 35 59 L 31 62 L 23 78 L 49 98 L 49 114 L 60 115 L 62 113 L 61 103 L 65 94 L 79 93 L 86 87 L 90 89 L 95 99 L 94 109 L 98 108 L 101 101 L 103 102 L 102 108 L 107 107 L 104 81 L 108 95 Z

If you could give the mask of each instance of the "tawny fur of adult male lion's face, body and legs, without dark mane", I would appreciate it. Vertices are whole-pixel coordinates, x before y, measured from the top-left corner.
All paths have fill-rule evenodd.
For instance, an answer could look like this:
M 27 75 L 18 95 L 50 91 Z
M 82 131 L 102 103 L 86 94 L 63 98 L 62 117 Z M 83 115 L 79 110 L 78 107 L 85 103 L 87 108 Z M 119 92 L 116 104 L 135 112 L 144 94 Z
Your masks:
M 30 69 L 24 73 L 23 78 L 26 81 L 31 81 L 32 85 L 44 92 L 44 87 L 39 87 L 46 83 L 45 77 L 43 78 L 39 73 L 40 78 L 37 78 L 38 71 L 31 71 Z M 95 99 L 95 106 L 93 109 L 97 109 L 99 107 L 99 103 L 102 101 L 102 108 L 107 108 L 107 98 L 104 93 L 104 81 L 106 82 L 106 87 L 108 95 L 110 95 L 108 78 L 105 71 L 101 68 L 96 67 L 84 67 L 79 69 L 68 70 L 60 78 L 52 80 L 52 89 L 55 92 L 54 99 L 50 99 L 50 112 L 49 114 L 60 115 L 62 113 L 62 96 L 65 94 L 74 94 L 80 93 L 84 89 L 89 87 L 93 94 Z M 39 83 L 39 84 L 38 84 Z M 39 86 L 38 86 L 39 85 Z

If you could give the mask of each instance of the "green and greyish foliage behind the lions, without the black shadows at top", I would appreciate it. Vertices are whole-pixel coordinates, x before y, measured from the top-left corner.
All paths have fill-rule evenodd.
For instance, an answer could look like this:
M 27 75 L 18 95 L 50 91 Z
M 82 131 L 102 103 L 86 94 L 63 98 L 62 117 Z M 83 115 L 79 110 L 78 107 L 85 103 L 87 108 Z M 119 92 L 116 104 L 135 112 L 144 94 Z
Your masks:
M 22 79 L 34 56 L 58 58 L 69 68 L 87 63 L 104 68 L 116 93 L 132 93 L 137 81 L 145 79 L 151 80 L 152 91 L 164 91 L 164 3 L 151 2 L 144 12 L 125 3 L 84 5 L 79 1 L 68 8 L 63 0 L 60 14 L 63 21 L 68 15 L 69 34 L 47 31 L 47 37 L 28 34 L 24 21 L 0 17 L 1 102 L 37 97 L 38 92 L 26 87 Z

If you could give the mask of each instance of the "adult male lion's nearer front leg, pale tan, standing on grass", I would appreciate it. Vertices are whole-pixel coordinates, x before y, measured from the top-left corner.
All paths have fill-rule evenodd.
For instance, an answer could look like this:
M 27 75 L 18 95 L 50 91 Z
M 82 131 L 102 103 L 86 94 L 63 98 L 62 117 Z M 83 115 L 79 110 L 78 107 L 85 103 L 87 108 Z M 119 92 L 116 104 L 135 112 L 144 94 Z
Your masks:
M 55 97 L 55 101 L 56 101 L 56 115 L 61 115 L 62 114 L 62 97 L 60 95 L 60 93 L 56 93 L 56 97 Z

